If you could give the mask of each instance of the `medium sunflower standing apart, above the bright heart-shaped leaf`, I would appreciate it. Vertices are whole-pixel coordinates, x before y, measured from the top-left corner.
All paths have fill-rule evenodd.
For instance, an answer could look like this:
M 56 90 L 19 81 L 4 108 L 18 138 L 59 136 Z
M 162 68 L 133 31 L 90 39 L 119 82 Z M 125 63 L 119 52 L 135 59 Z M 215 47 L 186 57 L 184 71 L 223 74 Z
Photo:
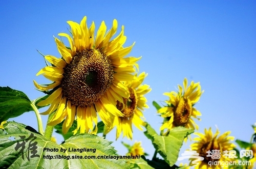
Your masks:
M 167 106 L 158 110 L 161 113 L 161 117 L 166 118 L 167 121 L 160 127 L 160 130 L 167 128 L 165 134 L 174 127 L 185 126 L 186 128 L 193 128 L 198 130 L 198 125 L 192 118 L 200 120 L 197 116 L 201 116 L 201 113 L 194 107 L 199 101 L 200 96 L 204 91 L 201 91 L 199 82 L 194 83 L 191 81 L 190 86 L 187 88 L 187 79 L 183 81 L 183 88 L 178 85 L 179 91 L 164 93 L 169 97 L 169 100 L 165 101 Z

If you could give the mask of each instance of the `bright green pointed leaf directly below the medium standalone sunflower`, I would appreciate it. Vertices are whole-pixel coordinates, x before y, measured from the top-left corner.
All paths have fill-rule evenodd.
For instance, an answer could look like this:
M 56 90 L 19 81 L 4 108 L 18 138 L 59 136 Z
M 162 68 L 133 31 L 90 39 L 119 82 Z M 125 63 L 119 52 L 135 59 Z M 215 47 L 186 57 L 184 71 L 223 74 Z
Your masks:
M 175 127 L 169 131 L 167 136 L 161 136 L 148 123 L 145 127 L 146 131 L 144 134 L 147 138 L 151 139 L 156 151 L 170 166 L 173 166 L 178 159 L 183 139 L 193 132 L 193 129 Z

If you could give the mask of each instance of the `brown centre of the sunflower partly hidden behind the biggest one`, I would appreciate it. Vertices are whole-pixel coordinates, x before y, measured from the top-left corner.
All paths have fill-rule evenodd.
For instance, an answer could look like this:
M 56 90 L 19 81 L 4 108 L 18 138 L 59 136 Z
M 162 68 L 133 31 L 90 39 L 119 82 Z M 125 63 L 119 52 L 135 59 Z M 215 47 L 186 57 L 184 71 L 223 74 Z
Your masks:
M 123 103 L 117 100 L 116 107 L 123 113 L 123 117 L 120 117 L 121 119 L 130 119 L 134 115 L 134 110 L 137 105 L 137 100 L 135 93 L 132 89 L 129 90 L 130 97 L 129 99 L 123 98 Z M 124 107 L 123 107 L 124 106 Z

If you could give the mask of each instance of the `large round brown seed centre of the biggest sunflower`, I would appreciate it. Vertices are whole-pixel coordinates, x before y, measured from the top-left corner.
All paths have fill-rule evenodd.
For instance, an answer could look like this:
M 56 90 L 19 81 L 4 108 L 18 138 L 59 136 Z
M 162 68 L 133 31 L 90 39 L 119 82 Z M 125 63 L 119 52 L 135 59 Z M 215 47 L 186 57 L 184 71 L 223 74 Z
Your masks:
M 76 52 L 64 69 L 60 87 L 72 105 L 93 105 L 108 90 L 114 79 L 108 55 L 98 49 Z

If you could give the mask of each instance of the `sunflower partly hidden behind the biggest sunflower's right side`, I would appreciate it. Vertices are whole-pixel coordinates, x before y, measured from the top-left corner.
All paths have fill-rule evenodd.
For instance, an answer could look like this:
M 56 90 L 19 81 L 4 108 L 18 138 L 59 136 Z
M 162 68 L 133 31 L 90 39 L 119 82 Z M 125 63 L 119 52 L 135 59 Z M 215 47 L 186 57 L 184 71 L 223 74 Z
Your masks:
M 124 85 L 128 88 L 130 97 L 122 98 L 116 102 L 116 107 L 120 110 L 123 116 L 114 117 L 114 125 L 111 128 L 107 128 L 105 133 L 108 133 L 113 129 L 114 126 L 117 127 L 116 130 L 116 139 L 123 132 L 123 137 L 126 136 L 129 139 L 133 139 L 133 129 L 132 124 L 134 124 L 138 129 L 143 130 L 141 126 L 144 126 L 145 118 L 143 117 L 142 111 L 143 108 L 148 108 L 146 104 L 146 98 L 144 94 L 151 91 L 150 86 L 141 85 L 144 78 L 147 76 L 145 72 L 142 72 L 138 77 L 135 74 L 136 80 L 124 82 Z M 142 120 L 142 119 L 143 120 Z

